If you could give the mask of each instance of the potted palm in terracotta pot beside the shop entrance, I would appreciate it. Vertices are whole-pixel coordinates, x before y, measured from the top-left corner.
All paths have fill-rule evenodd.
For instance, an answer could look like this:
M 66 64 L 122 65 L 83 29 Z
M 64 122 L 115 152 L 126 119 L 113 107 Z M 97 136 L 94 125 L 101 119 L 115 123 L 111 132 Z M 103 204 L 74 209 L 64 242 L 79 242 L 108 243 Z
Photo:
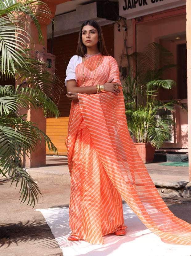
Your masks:
M 164 79 L 165 72 L 176 66 L 169 50 L 152 42 L 128 58 L 136 62 L 123 87 L 128 129 L 144 163 L 152 163 L 155 148 L 161 148 L 172 134 L 175 122 L 169 113 L 175 111 L 175 104 L 184 110 L 187 106 L 172 96 L 167 101 L 159 98 L 161 89 L 171 90 L 176 85 L 174 80 Z

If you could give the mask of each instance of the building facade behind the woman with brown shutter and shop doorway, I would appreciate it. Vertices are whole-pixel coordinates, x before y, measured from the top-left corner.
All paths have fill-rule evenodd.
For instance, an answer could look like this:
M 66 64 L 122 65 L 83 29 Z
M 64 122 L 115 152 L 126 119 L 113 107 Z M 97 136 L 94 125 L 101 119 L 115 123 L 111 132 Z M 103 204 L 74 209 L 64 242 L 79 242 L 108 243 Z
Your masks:
M 57 5 L 54 19 L 54 37 L 52 24 L 47 27 L 47 51 L 56 56 L 56 72 L 63 82 L 67 64 L 75 54 L 80 25 L 84 20 L 94 19 L 102 26 L 107 49 L 118 62 L 122 85 L 128 73 L 128 60 L 123 54 L 142 51 L 148 43 L 156 42 L 170 50 L 178 64 L 178 68 L 169 73 L 168 79 L 177 82 L 170 94 L 187 103 L 185 0 L 119 0 L 109 5 L 76 0 Z M 161 100 L 169 96 L 165 91 L 160 93 Z M 61 155 L 66 154 L 70 104 L 64 93 L 59 102 L 60 119 L 47 119 L 47 135 Z M 174 118 L 177 126 L 162 150 L 188 152 L 188 114 L 176 107 Z

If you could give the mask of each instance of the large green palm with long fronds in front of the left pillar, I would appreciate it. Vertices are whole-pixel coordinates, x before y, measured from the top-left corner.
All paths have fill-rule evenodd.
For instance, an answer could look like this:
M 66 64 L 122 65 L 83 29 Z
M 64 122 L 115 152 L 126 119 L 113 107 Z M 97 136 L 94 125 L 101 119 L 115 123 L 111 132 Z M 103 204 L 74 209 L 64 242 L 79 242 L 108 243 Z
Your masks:
M 0 84 L 0 173 L 12 178 L 11 184 L 16 181 L 16 187 L 20 184 L 22 203 L 34 206 L 40 190 L 23 169 L 23 159 L 42 141 L 54 154 L 58 151 L 38 125 L 27 121 L 27 115 L 19 111 L 32 108 L 43 111 L 44 116 L 59 117 L 57 104 L 63 85 L 48 71 L 47 63 L 33 54 L 32 38 L 27 31 L 29 17 L 37 28 L 39 42 L 43 43 L 38 19 L 51 19 L 44 2 L 0 1 L 0 79 L 11 78 L 16 82 L 16 87 Z

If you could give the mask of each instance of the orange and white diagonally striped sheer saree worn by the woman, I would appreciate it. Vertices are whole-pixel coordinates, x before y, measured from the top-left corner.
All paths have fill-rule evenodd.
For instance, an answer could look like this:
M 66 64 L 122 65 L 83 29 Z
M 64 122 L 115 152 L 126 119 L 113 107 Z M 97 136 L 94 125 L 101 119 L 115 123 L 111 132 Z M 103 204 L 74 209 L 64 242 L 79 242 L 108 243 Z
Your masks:
M 84 63 L 90 85 L 100 55 Z M 76 67 L 83 86 L 83 64 Z M 93 85 L 113 78 L 120 83 L 116 60 L 103 56 Z M 145 226 L 162 239 L 191 245 L 191 225 L 173 215 L 153 184 L 129 135 L 123 93 L 78 94 L 72 102 L 67 150 L 71 174 L 69 207 L 72 234 L 92 244 L 103 235 L 126 228 L 120 195 Z

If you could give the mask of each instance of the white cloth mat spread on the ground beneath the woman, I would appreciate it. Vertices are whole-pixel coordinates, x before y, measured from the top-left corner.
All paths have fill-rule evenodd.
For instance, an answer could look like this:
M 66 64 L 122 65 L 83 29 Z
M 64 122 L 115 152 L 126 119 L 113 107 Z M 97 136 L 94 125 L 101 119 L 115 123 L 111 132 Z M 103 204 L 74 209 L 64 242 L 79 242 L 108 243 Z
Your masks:
M 125 236 L 109 234 L 104 236 L 104 245 L 91 245 L 80 240 L 70 242 L 68 208 L 39 210 L 51 228 L 64 256 L 191 256 L 191 245 L 170 245 L 147 229 L 127 204 L 124 207 L 124 221 L 128 226 Z

